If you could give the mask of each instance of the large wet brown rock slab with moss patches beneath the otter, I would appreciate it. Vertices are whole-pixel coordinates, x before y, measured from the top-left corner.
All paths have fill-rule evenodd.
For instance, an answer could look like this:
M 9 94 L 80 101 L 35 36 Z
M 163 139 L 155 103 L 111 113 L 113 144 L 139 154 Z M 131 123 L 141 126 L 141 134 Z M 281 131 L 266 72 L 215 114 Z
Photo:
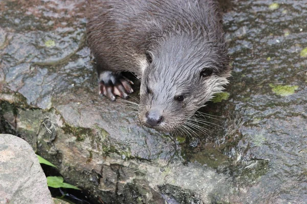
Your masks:
M 233 77 L 201 110 L 208 131 L 176 138 L 98 96 L 84 2 L 0 2 L 2 133 L 93 203 L 307 200 L 305 4 L 221 1 Z

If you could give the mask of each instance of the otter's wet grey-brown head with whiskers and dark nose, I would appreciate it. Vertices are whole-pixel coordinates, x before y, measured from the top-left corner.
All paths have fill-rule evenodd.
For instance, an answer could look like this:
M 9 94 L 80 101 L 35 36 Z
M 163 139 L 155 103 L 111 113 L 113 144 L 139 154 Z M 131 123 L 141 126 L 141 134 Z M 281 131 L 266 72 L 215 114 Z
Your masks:
M 139 119 L 159 131 L 173 132 L 185 125 L 228 83 L 230 67 L 224 40 L 169 37 L 145 56 Z

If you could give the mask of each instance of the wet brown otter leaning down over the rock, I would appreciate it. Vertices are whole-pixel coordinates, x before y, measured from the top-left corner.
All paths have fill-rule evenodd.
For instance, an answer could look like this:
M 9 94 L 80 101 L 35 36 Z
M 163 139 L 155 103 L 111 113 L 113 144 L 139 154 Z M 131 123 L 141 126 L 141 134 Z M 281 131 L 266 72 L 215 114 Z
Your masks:
M 87 42 L 99 93 L 127 98 L 141 79 L 139 119 L 172 132 L 221 92 L 230 76 L 222 14 L 213 0 L 88 0 Z

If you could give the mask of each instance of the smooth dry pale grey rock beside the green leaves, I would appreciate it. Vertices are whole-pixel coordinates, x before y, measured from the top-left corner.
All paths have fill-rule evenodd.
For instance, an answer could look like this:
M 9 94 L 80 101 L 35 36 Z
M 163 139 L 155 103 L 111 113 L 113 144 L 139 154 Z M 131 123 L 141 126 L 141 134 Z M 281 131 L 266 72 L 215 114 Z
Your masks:
M 13 135 L 0 134 L 0 203 L 53 204 L 32 147 Z

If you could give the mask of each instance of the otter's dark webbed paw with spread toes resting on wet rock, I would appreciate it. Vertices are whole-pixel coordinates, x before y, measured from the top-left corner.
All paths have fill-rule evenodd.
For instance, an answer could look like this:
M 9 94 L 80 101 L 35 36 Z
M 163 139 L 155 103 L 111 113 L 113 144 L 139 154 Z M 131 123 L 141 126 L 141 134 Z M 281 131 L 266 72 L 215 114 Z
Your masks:
M 116 95 L 127 99 L 129 93 L 133 93 L 131 85 L 134 83 L 124 77 L 121 73 L 103 71 L 99 75 L 99 94 L 115 101 Z

